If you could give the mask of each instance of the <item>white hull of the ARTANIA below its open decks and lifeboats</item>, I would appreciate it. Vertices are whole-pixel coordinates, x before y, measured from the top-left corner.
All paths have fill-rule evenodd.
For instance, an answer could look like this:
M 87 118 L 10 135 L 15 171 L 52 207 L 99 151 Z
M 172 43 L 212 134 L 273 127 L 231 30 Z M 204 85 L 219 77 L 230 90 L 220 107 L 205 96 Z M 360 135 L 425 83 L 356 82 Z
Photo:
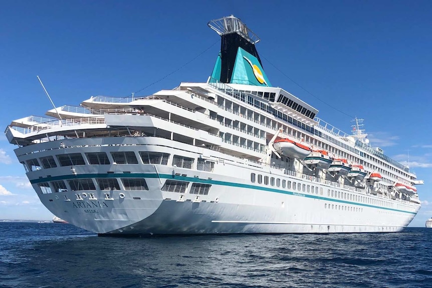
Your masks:
M 107 152 L 117 151 L 119 146 L 115 143 L 119 142 L 131 145 L 126 146 L 129 151 L 142 151 L 145 148 L 151 151 L 159 149 L 170 154 L 184 154 L 181 151 L 194 149 L 197 152 L 195 157 L 202 152 L 202 148 L 179 143 L 177 146 L 181 150 L 176 151 L 174 148 L 167 148 L 174 146 L 172 141 L 152 137 L 95 138 L 92 139 L 92 144 L 102 140 L 113 145 L 102 149 Z M 89 139 L 63 141 L 66 146 L 77 147 L 64 150 L 68 153 L 101 150 L 100 147 L 80 147 L 83 145 L 79 144 L 88 141 Z M 38 145 L 57 146 L 58 142 Z M 161 148 L 163 146 L 165 148 Z M 41 150 L 44 150 L 42 148 L 46 147 L 41 147 Z M 212 153 L 218 156 L 219 152 Z M 189 155 L 193 156 L 193 153 Z M 80 168 L 85 170 L 81 171 Z M 288 176 L 283 170 L 269 170 L 268 167 L 258 169 L 234 161 L 217 163 L 214 173 L 151 164 L 139 167 L 107 165 L 105 169 L 102 169 L 102 166 L 75 166 L 75 169 L 80 178 L 100 178 L 106 175 L 112 178 L 139 176 L 147 182 L 148 191 L 121 189 L 38 193 L 42 203 L 51 212 L 73 225 L 99 234 L 392 232 L 406 227 L 419 208 L 419 205 L 407 204 L 386 207 L 390 205 L 388 200 L 356 192 L 353 187 L 345 190 L 335 186 L 337 183 L 329 185 L 317 178 L 303 177 L 301 174 L 297 177 Z M 108 173 L 109 171 L 113 173 Z M 68 180 L 77 177 L 70 173 L 70 167 L 46 172 L 50 175 L 44 175 L 43 170 L 37 172 L 40 172 L 37 177 L 31 179 L 33 185 L 53 179 Z M 278 180 L 274 186 L 271 186 L 272 182 L 267 185 L 251 183 L 251 173 L 286 180 L 287 183 L 291 181 L 293 187 L 277 187 Z M 39 178 L 40 176 L 42 178 Z M 192 182 L 208 183 L 212 186 L 208 195 L 190 194 L 187 190 L 185 193 L 161 191 L 167 179 L 187 181 L 189 186 Z M 316 191 L 308 193 L 307 189 L 294 189 L 294 182 L 307 189 L 309 185 L 314 186 Z M 331 196 L 333 192 L 330 194 L 330 190 L 335 192 L 335 196 Z M 94 194 L 95 199 L 89 199 L 90 193 Z M 109 197 L 106 197 L 106 193 L 109 193 Z M 340 196 L 340 193 L 344 196 Z M 81 195 L 82 200 L 77 200 L 77 194 Z M 121 194 L 124 195 L 123 198 Z

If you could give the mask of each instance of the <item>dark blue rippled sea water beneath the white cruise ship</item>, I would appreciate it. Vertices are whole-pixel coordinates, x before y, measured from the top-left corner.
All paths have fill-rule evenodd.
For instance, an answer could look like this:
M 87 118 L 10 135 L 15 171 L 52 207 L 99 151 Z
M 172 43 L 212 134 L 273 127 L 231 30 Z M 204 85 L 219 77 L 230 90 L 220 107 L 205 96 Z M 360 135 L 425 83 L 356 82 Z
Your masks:
M 432 287 L 432 229 L 113 238 L 0 223 L 0 287 Z

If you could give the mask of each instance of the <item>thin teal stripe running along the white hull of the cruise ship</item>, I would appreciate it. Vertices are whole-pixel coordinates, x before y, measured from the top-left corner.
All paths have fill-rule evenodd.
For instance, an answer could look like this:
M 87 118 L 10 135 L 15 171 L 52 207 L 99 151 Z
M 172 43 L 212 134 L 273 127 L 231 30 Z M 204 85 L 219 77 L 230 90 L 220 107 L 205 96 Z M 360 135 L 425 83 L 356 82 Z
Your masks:
M 274 189 L 274 188 L 269 188 L 269 187 L 255 186 L 255 185 L 250 185 L 250 184 L 242 184 L 242 183 L 234 183 L 234 182 L 226 182 L 226 181 L 210 180 L 210 179 L 200 179 L 200 178 L 195 178 L 195 177 L 177 176 L 177 175 L 172 175 L 172 174 L 156 174 L 156 173 L 111 173 L 111 174 L 104 173 L 104 174 L 97 174 L 97 173 L 95 173 L 95 174 L 63 175 L 63 176 L 54 176 L 54 177 L 35 179 L 35 180 L 31 180 L 30 183 L 37 184 L 37 183 L 48 182 L 48 181 L 71 180 L 71 179 L 82 179 L 82 178 L 162 178 L 162 179 L 176 179 L 176 180 L 183 180 L 183 181 L 196 182 L 196 183 L 206 183 L 206 184 L 222 185 L 222 186 L 229 186 L 229 187 L 240 187 L 240 188 L 247 188 L 247 189 L 254 189 L 254 190 L 261 190 L 261 191 L 268 191 L 268 192 L 276 192 L 276 193 L 282 193 L 282 194 L 293 195 L 293 196 L 300 196 L 300 197 L 306 197 L 306 198 L 332 201 L 332 202 L 337 202 L 337 203 L 345 203 L 345 204 L 350 204 L 350 205 L 371 207 L 371 208 L 377 208 L 377 209 L 383 209 L 383 210 L 389 210 L 389 211 L 409 213 L 409 214 L 414 214 L 414 215 L 416 214 L 415 212 L 411 212 L 411 211 L 404 211 L 404 210 L 399 210 L 399 209 L 369 205 L 369 204 L 365 204 L 365 203 L 356 203 L 356 202 L 344 201 L 344 200 L 339 200 L 339 199 L 332 199 L 332 198 L 327 198 L 327 197 L 322 197 L 322 196 L 317 196 L 317 195 L 312 195 L 312 194 L 303 194 L 303 193 L 299 193 L 299 192 L 285 191 L 285 190 Z

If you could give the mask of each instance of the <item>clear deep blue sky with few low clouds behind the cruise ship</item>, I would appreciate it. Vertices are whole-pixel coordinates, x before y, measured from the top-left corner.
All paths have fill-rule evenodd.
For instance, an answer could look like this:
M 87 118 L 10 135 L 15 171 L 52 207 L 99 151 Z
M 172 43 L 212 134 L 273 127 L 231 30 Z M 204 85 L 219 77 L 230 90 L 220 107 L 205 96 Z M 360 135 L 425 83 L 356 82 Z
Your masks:
M 0 124 L 51 109 L 37 75 L 57 106 L 205 82 L 220 50 L 207 22 L 231 14 L 261 38 L 274 86 L 343 131 L 364 118 L 372 146 L 397 161 L 409 151 L 411 171 L 425 182 L 411 226 L 423 226 L 432 216 L 430 1 L 2 2 Z M 0 136 L 0 218 L 52 218 L 15 148 Z

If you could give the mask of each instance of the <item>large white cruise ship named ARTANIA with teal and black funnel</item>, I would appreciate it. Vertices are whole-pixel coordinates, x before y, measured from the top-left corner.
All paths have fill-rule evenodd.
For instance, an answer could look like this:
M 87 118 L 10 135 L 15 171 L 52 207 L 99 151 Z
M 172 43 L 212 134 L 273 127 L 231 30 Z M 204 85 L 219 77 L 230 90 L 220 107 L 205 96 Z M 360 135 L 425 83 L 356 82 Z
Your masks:
M 41 202 L 99 235 L 396 232 L 416 175 L 271 84 L 240 19 L 208 23 L 221 51 L 203 83 L 15 121 L 5 133 Z

